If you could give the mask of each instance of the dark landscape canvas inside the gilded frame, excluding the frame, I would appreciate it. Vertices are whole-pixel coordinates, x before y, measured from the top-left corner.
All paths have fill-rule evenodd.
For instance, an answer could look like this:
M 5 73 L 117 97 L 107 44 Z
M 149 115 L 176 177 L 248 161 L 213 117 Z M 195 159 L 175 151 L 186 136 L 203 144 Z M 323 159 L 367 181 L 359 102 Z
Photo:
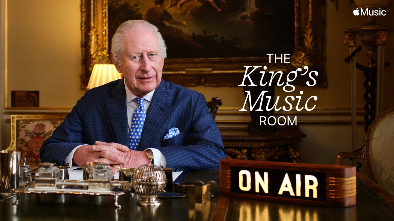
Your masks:
M 109 0 L 108 39 L 112 39 L 119 24 L 141 19 L 158 27 L 170 59 L 292 53 L 293 2 Z

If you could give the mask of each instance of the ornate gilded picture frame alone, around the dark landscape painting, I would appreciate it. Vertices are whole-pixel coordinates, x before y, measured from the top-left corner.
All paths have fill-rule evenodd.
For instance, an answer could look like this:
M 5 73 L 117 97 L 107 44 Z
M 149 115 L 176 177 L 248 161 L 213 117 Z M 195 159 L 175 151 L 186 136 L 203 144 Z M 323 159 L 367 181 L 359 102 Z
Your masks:
M 109 0 L 110 1 L 110 0 Z M 167 2 L 167 1 L 166 1 Z M 193 1 L 194 2 L 194 1 Z M 317 87 L 326 87 L 325 73 L 325 1 L 294 0 L 294 50 L 290 63 L 269 63 L 261 57 L 167 58 L 163 79 L 191 86 L 238 86 L 245 73 L 244 66 L 264 66 L 285 74 L 309 66 L 316 70 Z M 86 88 L 93 65 L 110 63 L 108 41 L 108 0 L 82 0 L 82 75 L 81 87 Z M 277 32 L 284 33 L 281 27 Z M 275 52 L 267 52 L 275 53 Z M 293 83 L 306 85 L 308 75 L 298 76 Z

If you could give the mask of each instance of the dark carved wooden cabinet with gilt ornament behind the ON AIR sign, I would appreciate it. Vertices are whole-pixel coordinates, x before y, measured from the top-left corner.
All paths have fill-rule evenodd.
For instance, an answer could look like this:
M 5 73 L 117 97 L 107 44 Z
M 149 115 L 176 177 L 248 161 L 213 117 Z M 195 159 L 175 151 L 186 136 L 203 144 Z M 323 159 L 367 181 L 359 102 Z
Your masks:
M 277 127 L 270 131 L 220 129 L 228 158 L 300 162 L 298 144 L 306 137 L 298 127 Z

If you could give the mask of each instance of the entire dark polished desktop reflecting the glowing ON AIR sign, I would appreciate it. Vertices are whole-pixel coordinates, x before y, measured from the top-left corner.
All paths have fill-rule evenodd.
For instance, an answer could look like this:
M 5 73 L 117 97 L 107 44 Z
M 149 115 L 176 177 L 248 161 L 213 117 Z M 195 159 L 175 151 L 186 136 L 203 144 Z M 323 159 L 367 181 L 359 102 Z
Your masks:
M 192 171 L 184 181 L 219 179 L 219 171 Z M 368 178 L 366 178 L 368 179 Z M 326 208 L 215 197 L 205 204 L 188 203 L 184 198 L 165 198 L 155 207 L 138 206 L 138 197 L 119 198 L 121 209 L 112 197 L 54 194 L 21 194 L 0 202 L 0 220 L 394 220 L 394 201 L 379 195 L 365 177 L 357 174 L 357 204 L 349 208 Z

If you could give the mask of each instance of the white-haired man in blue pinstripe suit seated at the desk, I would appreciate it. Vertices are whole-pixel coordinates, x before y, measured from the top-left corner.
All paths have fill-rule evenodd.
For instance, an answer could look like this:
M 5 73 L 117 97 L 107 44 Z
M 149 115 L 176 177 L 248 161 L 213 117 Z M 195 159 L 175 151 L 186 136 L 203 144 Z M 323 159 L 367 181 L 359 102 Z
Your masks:
M 111 59 L 124 80 L 93 88 L 40 149 L 42 162 L 105 162 L 138 168 L 150 160 L 174 171 L 217 169 L 226 157 L 203 94 L 162 80 L 166 46 L 143 20 L 121 24 Z

